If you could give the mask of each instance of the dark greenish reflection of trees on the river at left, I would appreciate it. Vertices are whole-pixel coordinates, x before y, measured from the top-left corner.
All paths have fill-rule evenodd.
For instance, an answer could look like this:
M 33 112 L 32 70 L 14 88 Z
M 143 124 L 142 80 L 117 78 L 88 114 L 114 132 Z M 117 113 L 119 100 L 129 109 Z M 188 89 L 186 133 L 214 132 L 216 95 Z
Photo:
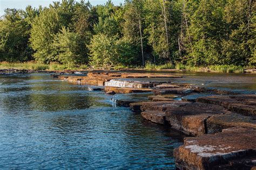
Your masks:
M 31 74 L 26 77 L 10 77 L 11 82 L 16 80 L 14 87 L 3 88 L 2 104 L 7 112 L 25 110 L 57 111 L 71 109 L 85 109 L 92 106 L 107 105 L 100 103 L 102 98 L 89 93 L 80 93 L 78 86 L 70 86 L 63 81 L 43 80 L 41 75 Z M 33 81 L 38 80 L 38 81 Z M 25 83 L 24 83 L 25 82 Z M 66 93 L 62 93 L 62 92 Z M 69 93 L 70 91 L 70 93 Z

